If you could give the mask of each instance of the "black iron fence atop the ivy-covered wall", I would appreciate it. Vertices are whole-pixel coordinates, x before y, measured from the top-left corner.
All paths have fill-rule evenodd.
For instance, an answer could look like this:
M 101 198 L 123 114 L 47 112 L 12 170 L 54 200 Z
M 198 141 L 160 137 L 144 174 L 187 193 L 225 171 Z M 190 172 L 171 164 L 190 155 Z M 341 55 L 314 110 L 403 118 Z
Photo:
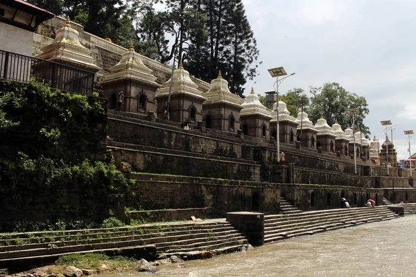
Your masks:
M 72 66 L 0 50 L 0 79 L 28 82 L 31 78 L 53 89 L 92 95 L 94 73 Z

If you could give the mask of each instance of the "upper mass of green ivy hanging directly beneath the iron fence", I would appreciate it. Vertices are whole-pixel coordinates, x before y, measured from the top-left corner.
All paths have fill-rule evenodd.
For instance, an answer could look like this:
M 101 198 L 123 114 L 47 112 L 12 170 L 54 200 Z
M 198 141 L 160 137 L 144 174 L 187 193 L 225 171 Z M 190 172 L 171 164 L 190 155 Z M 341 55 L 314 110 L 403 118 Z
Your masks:
M 10 150 L 73 162 L 88 157 L 105 138 L 97 124 L 105 120 L 105 102 L 98 98 L 52 91 L 33 80 L 0 81 L 0 91 L 0 134 Z M 17 152 L 6 155 L 14 159 Z

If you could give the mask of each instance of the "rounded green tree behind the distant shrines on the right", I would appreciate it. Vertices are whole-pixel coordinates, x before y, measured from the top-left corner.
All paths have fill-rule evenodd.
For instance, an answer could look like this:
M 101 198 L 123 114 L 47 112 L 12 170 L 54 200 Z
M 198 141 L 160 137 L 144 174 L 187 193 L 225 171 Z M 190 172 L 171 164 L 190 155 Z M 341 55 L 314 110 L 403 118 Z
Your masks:
M 351 116 L 347 114 L 347 109 L 360 109 L 359 116 L 356 117 L 356 127 L 361 129 L 367 139 L 370 139 L 370 128 L 363 123 L 363 119 L 370 112 L 367 101 L 356 93 L 345 90 L 336 82 L 327 82 L 322 87 L 311 87 L 311 106 L 309 109 L 309 118 L 316 123 L 321 117 L 327 120 L 329 125 L 338 121 L 345 129 L 352 125 Z

